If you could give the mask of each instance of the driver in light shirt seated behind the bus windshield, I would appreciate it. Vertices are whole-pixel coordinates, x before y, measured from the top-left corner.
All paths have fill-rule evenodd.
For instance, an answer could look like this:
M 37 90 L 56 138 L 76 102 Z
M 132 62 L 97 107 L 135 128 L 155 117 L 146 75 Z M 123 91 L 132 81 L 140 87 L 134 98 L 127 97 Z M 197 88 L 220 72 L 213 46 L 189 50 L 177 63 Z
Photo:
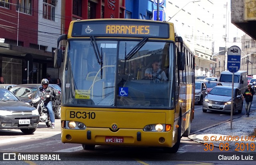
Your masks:
M 151 80 L 166 81 L 167 77 L 163 70 L 160 69 L 160 63 L 154 61 L 152 63 L 152 68 L 147 68 L 145 71 L 145 76 Z

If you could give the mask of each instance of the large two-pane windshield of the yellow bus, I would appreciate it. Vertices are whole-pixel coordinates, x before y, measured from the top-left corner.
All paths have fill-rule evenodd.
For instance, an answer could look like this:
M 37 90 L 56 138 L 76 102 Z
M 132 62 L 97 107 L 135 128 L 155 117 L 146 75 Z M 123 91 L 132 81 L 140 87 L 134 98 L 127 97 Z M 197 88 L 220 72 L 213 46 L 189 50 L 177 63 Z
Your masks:
M 64 105 L 173 107 L 171 41 L 70 40 L 65 57 Z

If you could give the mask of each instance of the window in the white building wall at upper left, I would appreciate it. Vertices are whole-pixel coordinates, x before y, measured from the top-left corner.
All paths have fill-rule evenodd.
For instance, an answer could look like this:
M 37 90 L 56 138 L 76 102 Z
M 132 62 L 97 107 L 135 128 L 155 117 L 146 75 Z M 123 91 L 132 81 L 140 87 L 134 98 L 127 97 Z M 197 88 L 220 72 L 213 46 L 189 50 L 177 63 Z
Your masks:
M 55 0 L 43 1 L 43 18 L 47 20 L 55 21 Z

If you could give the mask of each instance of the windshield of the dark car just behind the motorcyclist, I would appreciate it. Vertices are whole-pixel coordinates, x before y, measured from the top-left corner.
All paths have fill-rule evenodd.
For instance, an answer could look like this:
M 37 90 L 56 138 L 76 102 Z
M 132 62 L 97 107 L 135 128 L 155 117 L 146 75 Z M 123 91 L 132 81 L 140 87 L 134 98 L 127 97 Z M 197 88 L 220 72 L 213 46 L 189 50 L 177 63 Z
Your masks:
M 28 97 L 30 93 L 38 89 L 38 87 L 20 87 L 15 86 L 10 89 L 10 91 L 16 95 L 16 97 Z

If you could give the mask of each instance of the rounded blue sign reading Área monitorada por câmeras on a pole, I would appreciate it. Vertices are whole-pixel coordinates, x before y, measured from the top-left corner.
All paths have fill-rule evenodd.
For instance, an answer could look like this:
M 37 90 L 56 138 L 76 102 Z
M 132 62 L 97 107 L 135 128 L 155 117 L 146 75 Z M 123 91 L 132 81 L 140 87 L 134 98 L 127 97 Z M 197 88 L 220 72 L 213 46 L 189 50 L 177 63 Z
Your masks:
M 231 46 L 228 49 L 227 69 L 231 73 L 236 73 L 240 69 L 241 50 L 238 46 Z

